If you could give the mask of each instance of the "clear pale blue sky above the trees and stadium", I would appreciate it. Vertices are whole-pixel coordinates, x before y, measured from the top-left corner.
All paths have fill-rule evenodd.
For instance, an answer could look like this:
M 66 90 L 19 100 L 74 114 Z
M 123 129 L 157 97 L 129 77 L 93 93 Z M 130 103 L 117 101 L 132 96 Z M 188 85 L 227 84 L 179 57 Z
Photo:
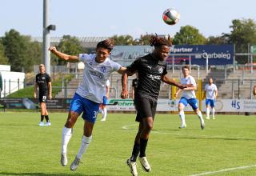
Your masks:
M 11 29 L 42 37 L 43 0 L 1 0 L 0 37 Z M 233 19 L 256 20 L 256 0 L 49 0 L 52 37 L 110 37 L 114 34 L 170 34 L 194 26 L 205 37 L 230 33 Z M 174 8 L 180 21 L 166 25 L 162 12 Z

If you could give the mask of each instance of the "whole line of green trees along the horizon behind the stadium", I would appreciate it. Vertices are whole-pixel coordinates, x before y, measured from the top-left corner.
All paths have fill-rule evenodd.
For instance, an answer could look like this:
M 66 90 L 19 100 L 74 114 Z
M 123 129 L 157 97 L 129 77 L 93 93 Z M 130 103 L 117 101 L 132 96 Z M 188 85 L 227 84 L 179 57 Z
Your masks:
M 248 44 L 256 45 L 256 22 L 253 19 L 234 19 L 230 25 L 230 33 L 206 38 L 194 26 L 182 26 L 173 36 L 174 45 L 204 45 L 204 44 L 235 44 L 237 53 L 247 53 Z M 213 26 L 214 27 L 214 26 Z M 114 35 L 116 45 L 148 45 L 152 34 L 143 34 L 140 38 L 127 35 Z M 78 38 L 64 35 L 58 43 L 58 50 L 66 54 L 85 52 Z M 246 57 L 238 58 L 238 62 L 245 63 Z M 54 65 L 65 62 L 51 55 Z M 42 63 L 42 43 L 32 41 L 30 36 L 10 30 L 0 38 L 0 64 L 10 64 L 11 70 L 33 70 L 33 66 Z

